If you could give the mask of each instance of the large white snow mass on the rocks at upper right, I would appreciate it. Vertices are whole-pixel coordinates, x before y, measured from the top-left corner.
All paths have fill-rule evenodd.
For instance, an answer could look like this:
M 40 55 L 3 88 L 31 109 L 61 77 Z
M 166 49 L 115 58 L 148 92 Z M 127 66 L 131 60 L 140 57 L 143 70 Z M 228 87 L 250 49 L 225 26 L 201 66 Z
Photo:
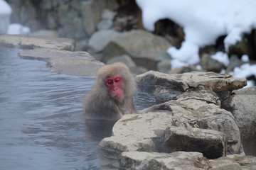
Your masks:
M 215 44 L 221 35 L 227 35 L 224 43 L 228 52 L 228 47 L 241 40 L 243 33 L 256 28 L 255 0 L 136 1 L 142 8 L 142 21 L 147 30 L 153 31 L 154 23 L 164 18 L 183 27 L 185 41 L 181 48 L 167 50 L 179 64 L 196 64 L 200 60 L 199 48 Z

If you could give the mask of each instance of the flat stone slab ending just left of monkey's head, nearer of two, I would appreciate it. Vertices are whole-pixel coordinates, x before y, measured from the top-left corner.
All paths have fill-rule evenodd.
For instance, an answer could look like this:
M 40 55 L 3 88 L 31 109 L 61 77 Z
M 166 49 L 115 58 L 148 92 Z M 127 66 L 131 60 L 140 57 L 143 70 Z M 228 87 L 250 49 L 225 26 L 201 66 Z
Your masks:
M 95 76 L 103 64 L 95 60 L 88 52 L 70 52 L 38 48 L 19 52 L 21 58 L 44 60 L 48 62 L 51 72 L 68 74 L 80 77 Z

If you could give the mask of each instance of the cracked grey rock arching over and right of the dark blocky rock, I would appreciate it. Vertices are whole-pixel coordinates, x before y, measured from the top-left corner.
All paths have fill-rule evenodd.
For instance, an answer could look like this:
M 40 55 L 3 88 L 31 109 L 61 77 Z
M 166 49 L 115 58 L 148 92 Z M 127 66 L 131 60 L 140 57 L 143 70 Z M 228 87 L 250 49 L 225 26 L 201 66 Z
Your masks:
M 215 98 L 215 94 L 205 96 L 204 91 L 205 89 L 198 90 L 199 94 L 195 98 L 188 91 L 178 96 L 176 101 L 169 102 L 174 115 L 177 116 L 174 117 L 173 125 L 223 132 L 228 140 L 228 154 L 241 153 L 240 130 L 235 123 L 235 118 L 230 112 L 211 102 L 210 96 Z

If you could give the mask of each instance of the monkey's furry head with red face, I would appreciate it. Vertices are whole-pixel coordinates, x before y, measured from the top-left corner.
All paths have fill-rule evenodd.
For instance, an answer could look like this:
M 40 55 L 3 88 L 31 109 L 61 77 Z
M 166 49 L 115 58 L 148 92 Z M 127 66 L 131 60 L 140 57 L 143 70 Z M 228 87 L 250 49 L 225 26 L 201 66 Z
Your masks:
M 103 87 L 103 95 L 108 95 L 118 101 L 131 97 L 137 89 L 129 68 L 120 62 L 99 69 L 96 81 L 96 84 Z

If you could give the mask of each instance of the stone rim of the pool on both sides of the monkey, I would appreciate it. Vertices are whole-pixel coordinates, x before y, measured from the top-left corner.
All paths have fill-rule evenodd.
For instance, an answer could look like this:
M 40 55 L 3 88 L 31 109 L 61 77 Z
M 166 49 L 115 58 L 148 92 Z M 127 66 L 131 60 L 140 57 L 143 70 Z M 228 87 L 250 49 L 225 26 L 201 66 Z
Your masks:
M 102 67 L 75 42 L 63 38 L 0 35 L 0 45 L 26 48 L 19 55 L 48 62 L 50 70 L 76 76 L 95 75 Z M 154 58 L 154 57 L 153 57 Z M 246 79 L 214 72 L 135 77 L 154 90 L 166 112 L 124 115 L 100 150 L 119 159 L 119 169 L 256 169 L 256 89 L 241 89 Z

